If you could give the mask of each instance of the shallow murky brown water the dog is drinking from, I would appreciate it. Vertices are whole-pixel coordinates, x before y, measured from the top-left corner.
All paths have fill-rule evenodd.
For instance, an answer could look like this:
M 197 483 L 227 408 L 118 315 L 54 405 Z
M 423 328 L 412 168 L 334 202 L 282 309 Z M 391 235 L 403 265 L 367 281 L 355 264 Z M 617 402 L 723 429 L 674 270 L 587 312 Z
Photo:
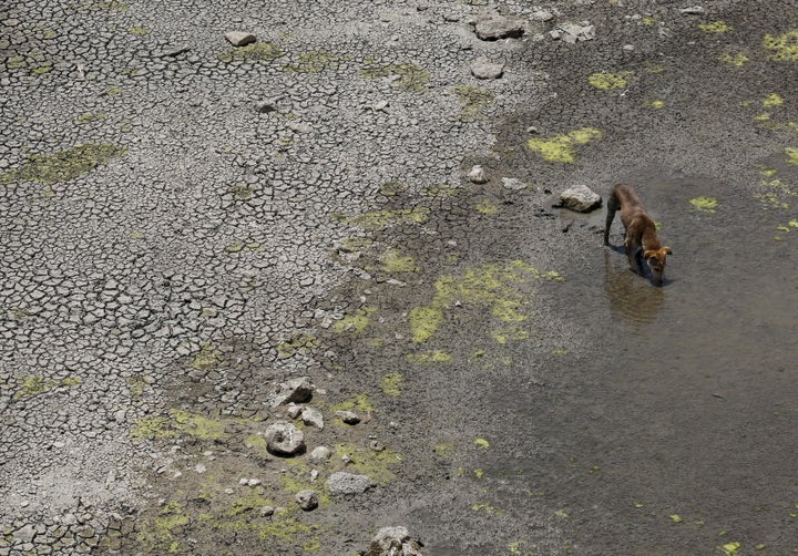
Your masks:
M 546 388 L 498 387 L 532 455 L 491 473 L 562 511 L 574 554 L 798 550 L 798 229 L 719 183 L 641 183 L 674 250 L 666 286 L 608 248 L 563 269 L 559 309 L 603 347 L 552 358 Z M 694 210 L 699 195 L 717 212 Z

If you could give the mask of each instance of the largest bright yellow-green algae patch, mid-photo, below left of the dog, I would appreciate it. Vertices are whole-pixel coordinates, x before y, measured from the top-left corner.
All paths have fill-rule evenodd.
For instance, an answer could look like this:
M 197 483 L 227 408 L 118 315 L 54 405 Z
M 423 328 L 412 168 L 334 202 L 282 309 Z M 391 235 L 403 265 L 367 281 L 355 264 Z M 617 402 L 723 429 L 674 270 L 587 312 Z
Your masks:
M 413 342 L 429 341 L 443 322 L 444 311 L 456 302 L 488 307 L 493 317 L 503 322 L 522 322 L 526 305 L 518 291 L 536 280 L 562 280 L 557 272 L 544 272 L 523 260 L 485 264 L 469 268 L 462 276 L 442 276 L 436 280 L 436 294 L 429 306 L 416 307 L 409 321 Z

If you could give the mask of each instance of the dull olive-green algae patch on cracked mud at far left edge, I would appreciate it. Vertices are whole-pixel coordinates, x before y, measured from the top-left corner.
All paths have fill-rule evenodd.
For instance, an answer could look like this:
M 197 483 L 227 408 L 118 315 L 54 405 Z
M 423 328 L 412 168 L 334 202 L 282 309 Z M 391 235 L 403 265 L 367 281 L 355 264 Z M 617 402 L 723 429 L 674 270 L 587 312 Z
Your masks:
M 49 155 L 33 154 L 19 168 L 0 174 L 0 184 L 39 182 L 53 185 L 69 182 L 125 154 L 125 147 L 99 143 L 80 144 Z

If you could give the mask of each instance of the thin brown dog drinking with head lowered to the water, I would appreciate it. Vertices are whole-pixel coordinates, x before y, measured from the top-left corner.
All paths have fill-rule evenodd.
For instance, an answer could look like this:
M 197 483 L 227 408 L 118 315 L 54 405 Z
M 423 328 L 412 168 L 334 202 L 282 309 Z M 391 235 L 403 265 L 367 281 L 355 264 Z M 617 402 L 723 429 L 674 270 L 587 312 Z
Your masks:
M 618 184 L 610 194 L 604 245 L 610 245 L 610 226 L 615 218 L 615 210 L 621 210 L 621 222 L 626 229 L 624 247 L 630 259 L 630 267 L 635 272 L 643 274 L 640 260 L 640 249 L 642 249 L 654 282 L 662 286 L 665 276 L 665 258 L 673 251 L 671 247 L 659 247 L 654 220 L 646 214 L 631 185 Z

